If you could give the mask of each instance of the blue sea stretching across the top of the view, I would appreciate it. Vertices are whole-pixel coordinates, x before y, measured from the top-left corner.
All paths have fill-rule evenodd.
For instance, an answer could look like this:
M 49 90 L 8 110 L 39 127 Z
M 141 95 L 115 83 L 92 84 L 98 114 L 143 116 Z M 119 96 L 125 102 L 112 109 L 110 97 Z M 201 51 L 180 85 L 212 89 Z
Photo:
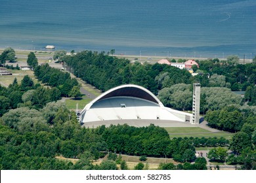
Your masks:
M 247 59 L 255 0 L 1 0 L 0 48 Z

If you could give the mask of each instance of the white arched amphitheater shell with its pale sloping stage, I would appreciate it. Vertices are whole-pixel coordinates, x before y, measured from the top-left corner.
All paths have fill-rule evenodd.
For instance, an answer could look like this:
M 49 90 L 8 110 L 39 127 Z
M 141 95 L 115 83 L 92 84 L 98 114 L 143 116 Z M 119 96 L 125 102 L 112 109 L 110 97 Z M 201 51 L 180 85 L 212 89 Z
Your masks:
M 149 90 L 135 84 L 112 88 L 83 108 L 79 114 L 81 124 L 107 124 L 127 120 L 168 120 L 186 122 L 190 114 L 164 107 L 161 101 Z M 97 126 L 97 125 L 96 125 Z

